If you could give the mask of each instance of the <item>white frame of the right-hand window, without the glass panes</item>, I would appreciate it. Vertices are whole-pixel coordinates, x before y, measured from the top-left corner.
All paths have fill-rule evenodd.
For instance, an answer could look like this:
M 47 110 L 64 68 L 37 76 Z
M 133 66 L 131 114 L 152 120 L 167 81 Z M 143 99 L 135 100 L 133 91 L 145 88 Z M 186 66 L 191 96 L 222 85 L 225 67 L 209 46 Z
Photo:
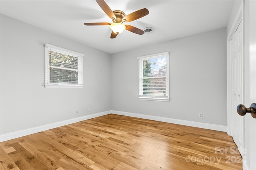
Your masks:
M 160 57 L 166 57 L 166 96 L 145 96 L 143 95 L 143 61 L 149 59 L 157 59 Z M 137 57 L 138 59 L 138 99 L 139 100 L 153 100 L 153 101 L 170 101 L 170 87 L 169 87 L 169 52 L 157 53 L 153 55 L 145 55 Z

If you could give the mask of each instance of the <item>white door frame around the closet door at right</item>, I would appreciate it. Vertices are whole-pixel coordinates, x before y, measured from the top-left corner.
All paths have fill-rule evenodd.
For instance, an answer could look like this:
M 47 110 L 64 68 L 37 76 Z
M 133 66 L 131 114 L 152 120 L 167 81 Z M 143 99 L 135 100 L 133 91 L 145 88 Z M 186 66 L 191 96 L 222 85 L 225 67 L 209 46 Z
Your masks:
M 243 16 L 243 8 L 244 3 L 241 3 L 241 6 L 238 10 L 236 18 L 232 24 L 230 32 L 228 33 L 227 37 L 227 133 L 229 136 L 232 136 L 232 72 L 231 72 L 231 39 L 238 25 L 240 24 L 241 20 L 244 22 Z M 244 27 L 244 24 L 243 24 Z M 243 55 L 242 55 L 242 62 L 243 62 L 243 70 L 244 70 L 244 28 L 243 28 Z M 242 102 L 244 101 L 244 71 L 243 71 L 243 84 L 242 84 Z M 242 149 L 244 148 L 244 117 L 242 117 Z M 241 149 L 241 150 L 242 150 Z M 243 156 L 243 153 L 241 153 Z

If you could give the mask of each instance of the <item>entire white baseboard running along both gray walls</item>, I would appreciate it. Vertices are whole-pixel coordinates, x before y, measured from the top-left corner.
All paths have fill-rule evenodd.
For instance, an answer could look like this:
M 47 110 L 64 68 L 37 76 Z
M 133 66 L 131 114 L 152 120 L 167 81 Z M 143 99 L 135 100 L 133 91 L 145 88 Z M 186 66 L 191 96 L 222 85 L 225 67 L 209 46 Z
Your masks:
M 20 131 L 14 131 L 11 133 L 5 133 L 5 134 L 0 135 L 0 142 L 8 141 L 10 139 L 15 139 L 15 138 L 26 136 L 26 135 L 31 135 L 33 133 L 46 131 L 46 130 L 53 129 L 53 128 L 60 127 L 60 126 L 69 125 L 71 123 L 76 123 L 79 121 L 84 121 L 87 119 L 92 119 L 95 117 L 108 115 L 110 113 L 116 114 L 116 115 L 124 115 L 124 116 L 130 116 L 130 117 L 138 117 L 138 118 L 142 118 L 142 119 L 162 121 L 162 122 L 167 122 L 167 123 L 175 123 L 175 124 L 179 124 L 179 125 L 200 127 L 200 128 L 211 129 L 211 130 L 216 130 L 216 131 L 223 131 L 223 132 L 227 131 L 227 126 L 222 126 L 222 125 L 214 125 L 214 124 L 209 124 L 209 123 L 172 119 L 172 118 L 168 118 L 168 117 L 159 117 L 159 116 L 144 115 L 144 114 L 138 114 L 138 113 L 124 112 L 124 111 L 110 110 L 110 111 L 104 111 L 104 112 L 100 112 L 100 113 L 94 113 L 91 115 L 85 115 L 82 117 L 76 117 L 74 119 L 68 119 L 65 121 L 59 121 L 56 123 L 50 123 L 47 125 L 32 127 L 32 128 L 24 129 L 24 130 L 20 130 Z

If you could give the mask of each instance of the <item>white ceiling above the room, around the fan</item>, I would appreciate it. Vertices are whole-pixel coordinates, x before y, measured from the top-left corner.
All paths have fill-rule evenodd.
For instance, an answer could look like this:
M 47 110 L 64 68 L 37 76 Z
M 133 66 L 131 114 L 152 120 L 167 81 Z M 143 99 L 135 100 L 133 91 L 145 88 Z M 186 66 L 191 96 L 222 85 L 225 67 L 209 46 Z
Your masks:
M 126 15 L 147 8 L 149 14 L 127 23 L 151 34 L 125 30 L 110 39 L 108 25 L 86 26 L 88 22 L 112 22 L 95 0 L 0 0 L 0 12 L 107 53 L 176 39 L 226 27 L 234 0 L 106 0 L 111 10 Z

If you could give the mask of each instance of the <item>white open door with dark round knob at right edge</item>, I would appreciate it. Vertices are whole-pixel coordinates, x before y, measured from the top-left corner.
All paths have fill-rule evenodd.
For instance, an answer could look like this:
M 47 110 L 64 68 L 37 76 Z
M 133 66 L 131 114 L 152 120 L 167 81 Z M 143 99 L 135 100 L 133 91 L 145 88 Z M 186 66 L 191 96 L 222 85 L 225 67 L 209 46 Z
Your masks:
M 247 22 L 244 104 L 248 108 L 252 103 L 256 103 L 256 1 L 245 1 L 245 11 Z M 244 150 L 243 169 L 256 170 L 256 119 L 250 113 L 244 116 Z

